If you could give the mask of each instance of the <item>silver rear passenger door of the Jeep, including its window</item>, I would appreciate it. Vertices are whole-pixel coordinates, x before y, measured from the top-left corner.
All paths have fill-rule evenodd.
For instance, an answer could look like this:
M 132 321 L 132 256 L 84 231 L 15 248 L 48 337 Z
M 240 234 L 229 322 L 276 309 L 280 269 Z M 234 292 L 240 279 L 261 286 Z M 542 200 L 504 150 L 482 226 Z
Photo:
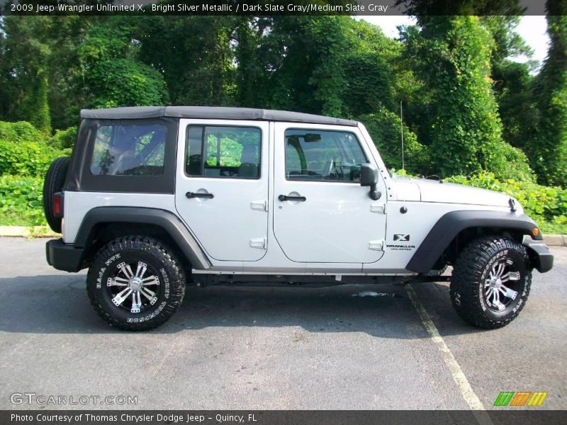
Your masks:
M 213 259 L 266 253 L 268 129 L 261 121 L 179 120 L 175 205 Z

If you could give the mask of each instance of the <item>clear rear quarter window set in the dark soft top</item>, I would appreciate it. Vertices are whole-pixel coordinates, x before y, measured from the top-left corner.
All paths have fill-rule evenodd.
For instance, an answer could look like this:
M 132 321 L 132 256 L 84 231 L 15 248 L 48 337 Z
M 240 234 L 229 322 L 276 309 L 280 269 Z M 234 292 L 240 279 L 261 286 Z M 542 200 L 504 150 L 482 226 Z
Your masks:
M 101 125 L 96 130 L 91 173 L 96 176 L 164 174 L 167 129 L 161 124 Z

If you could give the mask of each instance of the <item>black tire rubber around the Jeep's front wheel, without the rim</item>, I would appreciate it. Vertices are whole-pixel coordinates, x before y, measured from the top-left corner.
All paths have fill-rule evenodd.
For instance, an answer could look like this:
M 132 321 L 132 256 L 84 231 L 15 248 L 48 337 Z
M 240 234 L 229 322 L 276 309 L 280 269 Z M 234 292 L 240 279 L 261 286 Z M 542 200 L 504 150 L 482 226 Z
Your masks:
M 478 299 L 477 287 L 478 280 L 481 278 L 483 267 L 493 255 L 500 249 L 513 249 L 519 251 L 528 261 L 525 246 L 517 242 L 500 236 L 479 237 L 468 244 L 454 265 L 453 275 L 451 276 L 451 301 L 457 314 L 466 322 L 483 329 L 498 329 L 505 327 L 512 322 L 520 311 L 524 308 L 525 302 L 510 315 L 503 320 L 495 320 L 486 317 L 483 314 L 481 302 Z M 532 284 L 531 273 L 528 276 L 527 291 L 524 298 L 527 299 L 529 289 Z M 456 294 L 459 293 L 459 302 L 456 302 Z M 525 300 L 524 300 L 525 301 Z

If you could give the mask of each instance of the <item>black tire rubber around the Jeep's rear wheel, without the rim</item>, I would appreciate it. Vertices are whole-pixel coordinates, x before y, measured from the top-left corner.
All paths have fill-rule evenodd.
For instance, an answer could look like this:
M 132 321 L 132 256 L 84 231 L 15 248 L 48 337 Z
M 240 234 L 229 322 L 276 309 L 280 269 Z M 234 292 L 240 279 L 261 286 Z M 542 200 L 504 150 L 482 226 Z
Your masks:
M 166 264 L 170 276 L 170 295 L 167 305 L 154 319 L 142 323 L 124 323 L 111 314 L 108 314 L 96 300 L 94 288 L 96 287 L 96 273 L 103 266 L 106 259 L 123 249 L 142 249 L 147 253 L 154 254 L 157 259 L 162 259 Z M 117 327 L 125 331 L 147 331 L 155 329 L 169 320 L 183 302 L 185 296 L 185 273 L 181 261 L 172 249 L 162 244 L 157 239 L 142 235 L 120 237 L 108 242 L 96 255 L 94 263 L 86 275 L 86 292 L 94 310 L 111 327 Z

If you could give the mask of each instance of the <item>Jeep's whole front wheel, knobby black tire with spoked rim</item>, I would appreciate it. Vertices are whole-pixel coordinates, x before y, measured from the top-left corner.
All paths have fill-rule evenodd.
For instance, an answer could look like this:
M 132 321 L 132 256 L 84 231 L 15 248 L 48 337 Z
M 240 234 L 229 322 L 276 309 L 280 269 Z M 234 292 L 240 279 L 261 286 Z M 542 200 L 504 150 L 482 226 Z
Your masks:
M 513 273 L 519 273 L 515 275 L 519 279 L 514 283 L 516 297 L 508 299 L 510 305 L 505 310 L 495 311 L 494 306 L 489 305 L 489 297 L 485 296 L 485 285 L 493 267 L 500 263 L 514 267 L 517 271 Z M 465 246 L 454 264 L 451 301 L 457 314 L 466 322 L 483 329 L 497 329 L 505 327 L 520 314 L 531 284 L 532 268 L 522 244 L 501 236 L 479 237 Z

